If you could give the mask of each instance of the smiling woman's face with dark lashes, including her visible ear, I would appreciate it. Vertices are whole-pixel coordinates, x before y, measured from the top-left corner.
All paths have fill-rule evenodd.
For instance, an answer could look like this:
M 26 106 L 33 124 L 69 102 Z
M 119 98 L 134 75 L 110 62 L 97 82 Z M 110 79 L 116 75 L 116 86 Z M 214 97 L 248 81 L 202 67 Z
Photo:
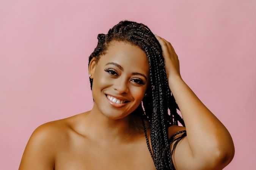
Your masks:
M 113 40 L 97 63 L 95 57 L 91 60 L 89 74 L 95 107 L 111 119 L 121 119 L 140 105 L 149 83 L 149 63 L 138 46 Z

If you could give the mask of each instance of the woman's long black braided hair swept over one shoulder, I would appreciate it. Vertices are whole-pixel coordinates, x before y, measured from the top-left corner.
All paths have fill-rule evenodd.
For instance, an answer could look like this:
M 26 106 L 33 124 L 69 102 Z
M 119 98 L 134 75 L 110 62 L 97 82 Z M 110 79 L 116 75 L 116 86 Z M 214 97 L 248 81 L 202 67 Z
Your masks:
M 112 40 L 123 41 L 137 45 L 147 56 L 149 62 L 149 88 L 147 96 L 131 113 L 141 117 L 149 152 L 157 170 L 174 169 L 170 155 L 170 140 L 168 127 L 178 125 L 178 121 L 185 127 L 182 117 L 177 113 L 178 105 L 168 86 L 162 48 L 148 26 L 128 20 L 120 21 L 107 34 L 98 34 L 98 43 L 89 57 L 97 62 Z M 88 65 L 89 66 L 89 65 Z M 93 79 L 90 79 L 91 89 Z M 168 113 L 168 109 L 170 113 Z M 149 146 L 148 135 L 144 120 L 149 122 L 152 151 Z M 169 148 L 169 149 L 167 149 Z

